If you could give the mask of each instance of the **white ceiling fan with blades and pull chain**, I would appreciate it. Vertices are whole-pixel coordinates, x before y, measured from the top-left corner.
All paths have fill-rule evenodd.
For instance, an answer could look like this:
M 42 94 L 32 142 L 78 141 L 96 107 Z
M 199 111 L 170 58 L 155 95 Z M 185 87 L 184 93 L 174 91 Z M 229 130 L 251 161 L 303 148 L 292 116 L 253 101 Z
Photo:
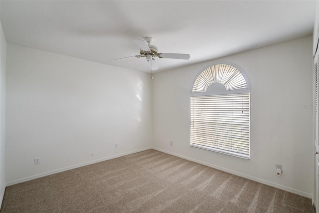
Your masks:
M 189 54 L 161 53 L 161 52 L 159 52 L 159 50 L 156 46 L 151 45 L 151 42 L 153 41 L 152 37 L 146 37 L 145 40 L 142 40 L 142 39 L 133 39 L 133 40 L 140 47 L 140 55 L 133 55 L 133 56 L 124 57 L 124 58 L 117 58 L 117 59 L 113 59 L 111 61 L 125 59 L 125 58 L 131 58 L 131 57 L 137 57 L 137 58 L 146 57 L 147 61 L 150 64 L 151 70 L 157 70 L 157 69 L 159 69 L 159 66 L 157 65 L 157 63 L 155 61 L 155 57 L 183 59 L 183 60 L 188 60 L 190 58 Z

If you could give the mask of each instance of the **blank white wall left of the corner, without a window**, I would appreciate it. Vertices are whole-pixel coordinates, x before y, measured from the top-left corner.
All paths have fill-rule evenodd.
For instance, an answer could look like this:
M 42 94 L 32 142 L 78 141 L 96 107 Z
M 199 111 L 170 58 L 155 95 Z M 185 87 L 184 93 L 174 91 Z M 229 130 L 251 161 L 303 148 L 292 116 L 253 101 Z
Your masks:
M 7 185 L 152 147 L 150 74 L 7 44 L 6 77 Z

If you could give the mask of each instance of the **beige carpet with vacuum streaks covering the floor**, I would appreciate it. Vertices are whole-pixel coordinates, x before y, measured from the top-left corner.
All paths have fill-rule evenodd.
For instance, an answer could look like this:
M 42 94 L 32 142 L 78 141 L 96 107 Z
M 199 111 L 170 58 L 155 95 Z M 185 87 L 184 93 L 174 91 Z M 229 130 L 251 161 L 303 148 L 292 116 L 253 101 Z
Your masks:
M 311 200 L 148 150 L 5 189 L 1 213 L 315 213 Z

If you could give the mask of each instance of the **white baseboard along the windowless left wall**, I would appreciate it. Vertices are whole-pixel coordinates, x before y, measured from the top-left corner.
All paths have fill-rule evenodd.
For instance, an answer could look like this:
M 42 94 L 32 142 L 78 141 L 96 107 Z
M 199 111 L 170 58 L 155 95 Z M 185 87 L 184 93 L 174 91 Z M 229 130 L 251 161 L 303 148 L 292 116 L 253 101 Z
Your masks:
M 42 177 L 45 177 L 45 176 L 48 176 L 48 175 L 53 175 L 53 174 L 56 174 L 56 173 L 67 171 L 67 170 L 76 169 L 76 168 L 87 166 L 87 165 L 90 165 L 90 164 L 95 164 L 95 163 L 98 163 L 98 162 L 101 162 L 101 161 L 106 161 L 106 160 L 110 160 L 110 159 L 113 159 L 113 158 L 118 158 L 118 157 L 122 157 L 122 156 L 125 156 L 125 155 L 130 155 L 130 154 L 133 154 L 133 153 L 142 152 L 142 151 L 146 151 L 146 150 L 150 150 L 150 149 L 152 149 L 152 147 L 148 147 L 148 148 L 144 148 L 144 149 L 140 149 L 140 150 L 134 150 L 134 151 L 131 151 L 131 152 L 126 152 L 126 153 L 121 153 L 121 154 L 118 154 L 118 155 L 112 155 L 112 156 L 109 156 L 109 157 L 106 157 L 106 158 L 101 158 L 101 159 L 97 159 L 97 160 L 94 160 L 94 161 L 89 161 L 89 162 L 85 162 L 85 163 L 82 163 L 82 164 L 78 164 L 78 165 L 65 167 L 65 168 L 58 169 L 58 170 L 53 170 L 53 171 L 49 171 L 49 172 L 45 172 L 45 173 L 41 173 L 41 174 L 29 176 L 29 177 L 17 179 L 17 180 L 10 181 L 10 182 L 6 183 L 5 186 L 11 186 L 11 185 L 14 185 L 14 184 L 19 184 L 19 183 L 30 181 L 30 180 L 34 180 L 34 179 L 37 179 L 37 178 L 42 178 Z M 3 192 L 3 194 L 4 194 L 4 192 Z M 1 197 L 1 199 L 2 199 L 2 197 Z M 1 202 L 2 202 L 2 200 L 1 200 Z

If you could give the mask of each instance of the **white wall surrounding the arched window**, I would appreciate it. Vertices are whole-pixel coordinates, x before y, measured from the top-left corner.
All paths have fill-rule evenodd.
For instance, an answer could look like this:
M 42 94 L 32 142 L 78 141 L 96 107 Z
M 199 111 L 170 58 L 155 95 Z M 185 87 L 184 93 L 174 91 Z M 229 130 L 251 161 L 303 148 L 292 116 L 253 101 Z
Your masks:
M 309 36 L 155 74 L 154 147 L 311 198 L 312 43 Z M 250 79 L 250 160 L 189 146 L 192 83 L 217 61 L 237 64 Z M 280 177 L 275 164 L 283 166 Z

